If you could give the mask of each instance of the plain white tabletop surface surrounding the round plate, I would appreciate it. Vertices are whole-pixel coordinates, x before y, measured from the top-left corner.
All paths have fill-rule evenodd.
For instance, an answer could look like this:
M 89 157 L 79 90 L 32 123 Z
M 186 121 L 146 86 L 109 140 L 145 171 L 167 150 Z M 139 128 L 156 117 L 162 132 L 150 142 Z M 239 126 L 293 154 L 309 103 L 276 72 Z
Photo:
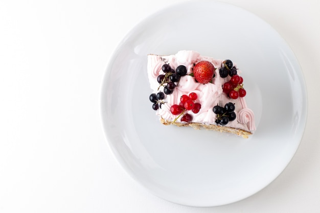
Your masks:
M 223 1 L 275 28 L 305 76 L 305 133 L 270 185 L 230 205 L 181 206 L 151 195 L 113 157 L 99 113 L 108 59 L 138 22 L 176 2 L 0 3 L 0 212 L 319 211 L 317 1 Z

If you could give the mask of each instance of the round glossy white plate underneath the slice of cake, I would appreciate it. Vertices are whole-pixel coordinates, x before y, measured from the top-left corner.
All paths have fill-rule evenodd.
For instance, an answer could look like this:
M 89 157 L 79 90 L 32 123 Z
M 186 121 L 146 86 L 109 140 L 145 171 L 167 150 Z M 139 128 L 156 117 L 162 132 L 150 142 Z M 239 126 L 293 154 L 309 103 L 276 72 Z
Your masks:
M 147 54 L 194 50 L 242 70 L 257 131 L 249 139 L 164 126 L 151 108 Z M 101 116 L 111 150 L 151 193 L 190 206 L 247 198 L 273 181 L 300 144 L 306 87 L 287 43 L 255 15 L 190 1 L 148 17 L 123 39 L 103 79 Z

